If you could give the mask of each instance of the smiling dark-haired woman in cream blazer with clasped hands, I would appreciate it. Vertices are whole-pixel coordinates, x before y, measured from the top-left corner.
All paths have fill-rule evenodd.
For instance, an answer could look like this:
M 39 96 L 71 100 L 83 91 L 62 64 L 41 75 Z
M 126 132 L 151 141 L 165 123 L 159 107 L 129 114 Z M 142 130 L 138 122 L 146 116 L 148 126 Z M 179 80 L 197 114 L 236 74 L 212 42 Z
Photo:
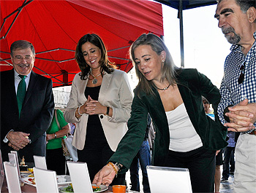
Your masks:
M 110 63 L 96 34 L 79 40 L 75 60 L 81 71 L 73 79 L 64 118 L 77 123 L 72 144 L 78 149 L 78 161 L 87 163 L 92 181 L 127 132 L 132 90 L 127 74 Z M 113 184 L 124 180 L 124 175 L 118 176 Z

